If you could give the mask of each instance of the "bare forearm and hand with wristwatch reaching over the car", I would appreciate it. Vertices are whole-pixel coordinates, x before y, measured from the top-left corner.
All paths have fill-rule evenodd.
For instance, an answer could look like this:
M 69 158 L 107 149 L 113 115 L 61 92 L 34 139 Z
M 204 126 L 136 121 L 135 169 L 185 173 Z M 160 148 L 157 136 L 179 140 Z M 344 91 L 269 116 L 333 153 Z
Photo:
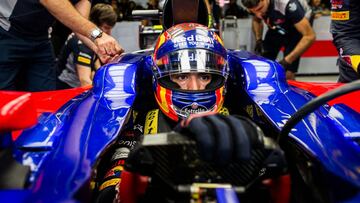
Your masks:
M 40 0 L 40 3 L 61 23 L 90 39 L 91 31 L 96 25 L 83 17 L 68 0 Z M 96 45 L 94 51 L 108 56 L 108 59 L 123 52 L 117 41 L 106 33 L 95 39 L 94 43 Z

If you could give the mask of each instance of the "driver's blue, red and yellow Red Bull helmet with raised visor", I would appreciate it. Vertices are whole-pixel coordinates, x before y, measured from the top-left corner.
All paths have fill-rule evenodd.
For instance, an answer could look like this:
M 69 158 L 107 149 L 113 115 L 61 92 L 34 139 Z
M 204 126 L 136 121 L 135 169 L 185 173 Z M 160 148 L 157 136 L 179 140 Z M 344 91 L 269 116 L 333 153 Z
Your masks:
M 226 49 L 214 31 L 196 23 L 175 25 L 159 36 L 153 60 L 155 98 L 166 116 L 178 121 L 220 111 L 229 71 Z M 211 82 L 204 90 L 182 90 L 170 79 L 179 73 L 210 73 Z

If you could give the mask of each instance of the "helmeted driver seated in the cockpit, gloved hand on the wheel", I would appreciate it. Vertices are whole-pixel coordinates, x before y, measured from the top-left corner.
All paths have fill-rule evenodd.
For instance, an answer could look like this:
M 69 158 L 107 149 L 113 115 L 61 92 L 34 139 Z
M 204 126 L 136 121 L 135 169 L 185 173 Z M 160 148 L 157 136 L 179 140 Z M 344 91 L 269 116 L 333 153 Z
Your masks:
M 185 23 L 161 34 L 152 71 L 158 107 L 137 113 L 130 119 L 134 124 L 122 131 L 98 184 L 97 202 L 113 201 L 128 153 L 142 135 L 179 131 L 196 140 L 204 160 L 226 164 L 249 158 L 250 140 L 261 134 L 252 121 L 230 116 L 223 107 L 229 74 L 227 52 L 221 39 L 207 27 Z M 242 147 L 235 147 L 239 145 Z

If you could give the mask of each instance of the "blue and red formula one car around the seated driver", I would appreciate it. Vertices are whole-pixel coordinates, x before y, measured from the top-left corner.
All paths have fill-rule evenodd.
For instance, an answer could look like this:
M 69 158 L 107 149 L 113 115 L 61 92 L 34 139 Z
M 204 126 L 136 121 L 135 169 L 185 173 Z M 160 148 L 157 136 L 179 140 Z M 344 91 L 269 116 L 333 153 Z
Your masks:
M 174 8 L 169 6 L 174 2 L 165 5 Z M 204 7 L 202 1 L 191 2 Z M 165 29 L 170 27 L 168 16 L 173 16 L 166 9 Z M 271 138 L 266 141 L 266 152 L 282 156 L 284 151 L 287 165 L 253 151 L 254 159 L 247 163 L 215 168 L 199 161 L 191 140 L 170 132 L 143 140 L 142 148 L 151 152 L 155 167 L 153 180 L 147 183 L 152 185 L 150 192 L 181 193 L 169 195 L 174 198 L 169 202 L 179 202 L 176 198 L 188 202 L 360 202 L 360 95 L 355 92 L 331 100 L 359 89 L 359 82 L 288 82 L 275 61 L 241 50 L 228 50 L 227 57 L 230 76 L 225 105 L 258 124 Z M 152 65 L 151 50 L 127 53 L 100 68 L 91 88 L 0 92 L 0 201 L 94 202 L 94 180 L 108 159 L 108 150 L 125 126 L 131 125 L 131 111 L 147 111 L 156 105 Z M 335 89 L 338 86 L 343 87 Z M 322 95 L 329 89 L 335 92 Z M 174 160 L 163 157 L 167 153 L 180 157 L 174 158 L 180 171 L 171 165 Z M 201 162 L 201 167 L 194 170 L 193 164 L 181 164 L 188 163 L 182 159 L 189 157 L 195 165 Z M 191 174 L 194 171 L 197 176 Z M 169 186 L 161 183 L 164 179 L 172 180 L 167 181 L 170 189 L 161 188 Z

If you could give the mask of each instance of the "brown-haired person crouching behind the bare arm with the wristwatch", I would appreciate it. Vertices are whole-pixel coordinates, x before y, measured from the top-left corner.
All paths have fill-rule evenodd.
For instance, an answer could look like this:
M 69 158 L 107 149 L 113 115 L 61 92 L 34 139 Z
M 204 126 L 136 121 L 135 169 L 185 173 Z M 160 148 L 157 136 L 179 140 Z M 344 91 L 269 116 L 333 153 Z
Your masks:
M 111 35 L 117 14 L 111 5 L 99 3 L 91 9 L 89 18 L 104 33 Z M 100 62 L 96 54 L 74 33 L 70 34 L 56 64 L 56 70 L 61 71 L 56 89 L 91 85 L 93 75 L 99 67 Z

